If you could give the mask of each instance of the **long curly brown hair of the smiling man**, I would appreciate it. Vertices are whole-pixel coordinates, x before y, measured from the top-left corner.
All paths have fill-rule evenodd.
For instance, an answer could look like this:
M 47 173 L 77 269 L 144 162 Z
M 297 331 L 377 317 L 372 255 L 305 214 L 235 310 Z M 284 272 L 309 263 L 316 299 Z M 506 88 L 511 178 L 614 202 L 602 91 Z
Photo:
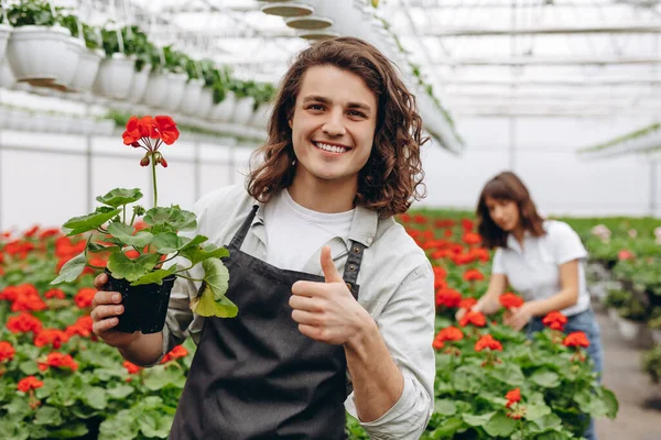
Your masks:
M 355 37 L 329 38 L 301 52 L 284 75 L 268 125 L 268 140 L 251 156 L 262 163 L 247 176 L 250 195 L 266 202 L 294 178 L 292 145 L 294 106 L 303 75 L 313 66 L 335 66 L 358 75 L 377 96 L 377 127 L 369 160 L 358 176 L 355 204 L 377 210 L 381 218 L 405 212 L 412 198 L 424 197 L 420 146 L 422 120 L 394 66 L 375 46 Z M 423 193 L 419 193 L 419 186 Z

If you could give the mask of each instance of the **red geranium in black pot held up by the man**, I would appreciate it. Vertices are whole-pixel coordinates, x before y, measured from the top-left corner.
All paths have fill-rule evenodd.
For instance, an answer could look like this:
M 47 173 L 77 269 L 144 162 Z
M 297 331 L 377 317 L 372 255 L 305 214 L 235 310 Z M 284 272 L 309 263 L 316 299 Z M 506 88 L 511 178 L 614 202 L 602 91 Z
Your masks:
M 161 331 L 175 277 L 202 283 L 198 296 L 191 301 L 195 314 L 230 318 L 238 312 L 236 305 L 225 296 L 229 273 L 220 257 L 229 252 L 207 243 L 204 235 L 180 235 L 181 231 L 196 228 L 195 213 L 176 205 L 158 205 L 156 167 L 167 167 L 159 148 L 173 144 L 178 134 L 176 124 L 167 116 L 131 117 L 122 134 L 123 143 L 145 151 L 140 165 L 151 166 L 153 207 L 133 205 L 142 198 L 139 188 L 115 188 L 96 198 L 101 206 L 94 212 L 64 223 L 67 235 L 87 233 L 87 244 L 80 254 L 62 266 L 52 284 L 73 282 L 85 267 L 106 271 L 108 288 L 122 295 L 124 312 L 119 316 L 117 326 L 120 331 Z M 136 220 L 140 216 L 143 216 L 143 226 L 138 227 Z M 107 258 L 105 266 L 96 263 L 100 255 Z M 186 263 L 180 266 L 173 262 L 175 257 Z M 204 277 L 191 278 L 187 271 L 199 264 Z

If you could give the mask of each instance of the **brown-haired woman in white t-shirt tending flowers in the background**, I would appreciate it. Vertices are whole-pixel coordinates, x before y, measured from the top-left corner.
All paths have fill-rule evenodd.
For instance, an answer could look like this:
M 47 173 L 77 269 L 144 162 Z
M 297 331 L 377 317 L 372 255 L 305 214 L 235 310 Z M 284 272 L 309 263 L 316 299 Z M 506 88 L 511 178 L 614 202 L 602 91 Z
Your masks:
M 589 341 L 587 353 L 600 376 L 603 353 L 599 326 L 585 283 L 587 252 L 576 232 L 556 220 L 544 220 L 528 188 L 513 173 L 500 173 L 484 187 L 477 205 L 478 232 L 488 249 L 496 248 L 487 293 L 473 310 L 485 315 L 500 308 L 499 297 L 511 286 L 525 304 L 508 312 L 505 323 L 531 336 L 543 330 L 551 311 L 567 317 L 566 333 L 582 331 Z M 457 312 L 457 319 L 465 310 Z M 584 435 L 595 440 L 590 421 Z

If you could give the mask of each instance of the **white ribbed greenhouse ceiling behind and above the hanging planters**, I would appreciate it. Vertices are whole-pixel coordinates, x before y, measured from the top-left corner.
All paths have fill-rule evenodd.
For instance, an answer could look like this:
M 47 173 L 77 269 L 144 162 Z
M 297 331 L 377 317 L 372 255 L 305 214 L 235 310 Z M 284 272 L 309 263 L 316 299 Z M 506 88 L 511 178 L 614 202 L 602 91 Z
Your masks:
M 82 8 L 90 19 L 102 10 L 140 23 L 155 41 L 229 64 L 237 76 L 277 81 L 310 43 L 261 12 L 264 3 L 83 0 Z M 661 1 L 381 0 L 375 13 L 453 114 L 661 110 Z

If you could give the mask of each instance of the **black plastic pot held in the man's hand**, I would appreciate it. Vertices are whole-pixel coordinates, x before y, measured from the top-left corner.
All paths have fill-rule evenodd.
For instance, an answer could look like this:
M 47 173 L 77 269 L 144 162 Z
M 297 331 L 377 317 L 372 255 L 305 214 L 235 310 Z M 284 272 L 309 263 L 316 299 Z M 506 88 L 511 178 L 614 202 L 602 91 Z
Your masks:
M 105 272 L 108 274 L 106 290 L 119 292 L 121 304 L 124 307 L 123 314 L 118 317 L 119 323 L 115 329 L 124 333 L 134 331 L 158 333 L 163 330 L 170 293 L 176 276 L 170 275 L 163 278 L 161 285 L 153 283 L 131 286 L 131 283 L 126 279 L 113 278 L 108 270 Z

